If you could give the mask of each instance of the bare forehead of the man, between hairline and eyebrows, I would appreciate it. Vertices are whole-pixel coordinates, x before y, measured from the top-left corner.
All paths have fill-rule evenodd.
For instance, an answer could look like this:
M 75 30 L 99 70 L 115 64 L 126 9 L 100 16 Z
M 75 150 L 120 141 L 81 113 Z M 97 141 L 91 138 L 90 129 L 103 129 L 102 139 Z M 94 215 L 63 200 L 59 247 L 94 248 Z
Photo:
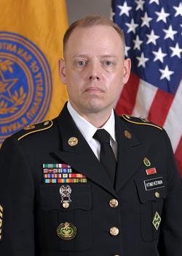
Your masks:
M 76 27 L 66 43 L 66 56 L 96 54 L 117 56 L 124 50 L 122 38 L 118 32 L 107 25 Z M 122 54 L 123 55 L 123 54 Z

